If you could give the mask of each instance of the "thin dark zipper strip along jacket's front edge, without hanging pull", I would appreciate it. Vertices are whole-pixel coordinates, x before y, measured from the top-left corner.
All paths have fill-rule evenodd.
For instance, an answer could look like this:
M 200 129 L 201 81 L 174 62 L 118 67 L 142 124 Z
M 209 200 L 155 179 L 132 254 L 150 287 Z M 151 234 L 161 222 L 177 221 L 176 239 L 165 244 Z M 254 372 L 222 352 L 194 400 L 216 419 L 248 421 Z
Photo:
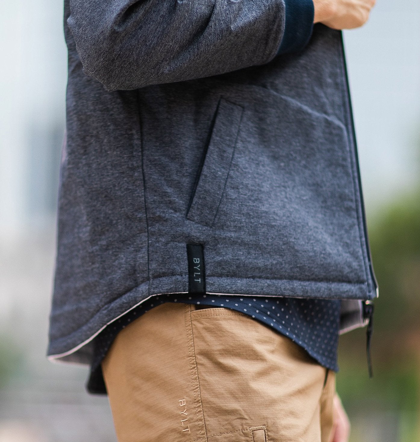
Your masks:
M 363 192 L 362 192 L 362 179 L 360 176 L 360 168 L 359 168 L 359 154 L 357 151 L 356 129 L 355 129 L 355 124 L 354 124 L 354 119 L 353 119 L 352 98 L 350 96 L 350 84 L 348 81 L 346 56 L 345 56 L 345 50 L 344 50 L 344 38 L 343 38 L 342 31 L 341 31 L 341 48 L 342 48 L 342 53 L 343 53 L 344 77 L 345 77 L 346 89 L 347 89 L 347 91 L 346 91 L 347 92 L 347 100 L 348 100 L 347 103 L 348 103 L 348 110 L 349 110 L 349 114 L 350 114 L 350 122 L 351 122 L 351 126 L 352 126 L 354 153 L 355 153 L 355 157 L 356 157 L 356 171 L 357 171 L 357 179 L 359 182 L 359 197 L 360 197 L 360 206 L 361 206 L 361 210 L 362 210 L 362 222 L 363 222 L 363 231 L 364 231 L 365 244 L 366 244 L 366 250 L 367 250 L 367 261 L 368 261 L 369 271 L 371 274 L 373 285 L 376 290 L 376 297 L 378 297 L 378 281 L 376 280 L 375 272 L 373 270 L 371 248 L 369 245 L 369 238 L 368 238 L 368 233 L 367 233 L 366 212 L 365 212 Z

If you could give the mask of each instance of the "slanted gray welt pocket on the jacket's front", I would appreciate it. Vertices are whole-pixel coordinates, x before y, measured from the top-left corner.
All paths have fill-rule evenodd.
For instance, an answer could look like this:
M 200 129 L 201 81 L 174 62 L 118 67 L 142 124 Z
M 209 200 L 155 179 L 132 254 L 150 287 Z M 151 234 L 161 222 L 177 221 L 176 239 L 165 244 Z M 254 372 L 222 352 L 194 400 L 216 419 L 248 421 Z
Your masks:
M 214 125 L 186 217 L 212 227 L 231 168 L 243 107 L 220 98 Z

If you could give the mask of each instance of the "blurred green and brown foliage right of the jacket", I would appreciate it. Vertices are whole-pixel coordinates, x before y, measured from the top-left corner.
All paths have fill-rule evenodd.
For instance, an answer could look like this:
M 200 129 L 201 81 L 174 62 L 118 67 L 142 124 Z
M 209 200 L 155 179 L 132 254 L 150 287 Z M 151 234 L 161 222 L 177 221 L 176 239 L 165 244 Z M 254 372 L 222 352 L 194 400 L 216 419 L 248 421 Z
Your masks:
M 398 421 L 394 442 L 419 442 L 420 184 L 367 221 L 379 285 L 372 338 L 374 377 L 367 374 L 365 329 L 352 331 L 340 338 L 337 391 L 351 421 L 361 416 L 375 421 L 375 415 L 391 412 Z M 354 433 L 351 442 L 366 440 Z

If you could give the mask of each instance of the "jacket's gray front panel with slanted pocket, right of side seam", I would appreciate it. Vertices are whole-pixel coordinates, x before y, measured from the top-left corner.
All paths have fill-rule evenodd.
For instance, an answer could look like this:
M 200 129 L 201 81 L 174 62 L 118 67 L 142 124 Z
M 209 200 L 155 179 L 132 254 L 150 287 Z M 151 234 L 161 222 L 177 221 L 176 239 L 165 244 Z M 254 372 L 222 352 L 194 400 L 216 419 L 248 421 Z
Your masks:
M 139 90 L 151 293 L 195 242 L 208 292 L 373 297 L 340 45 L 318 26 L 264 67 Z

